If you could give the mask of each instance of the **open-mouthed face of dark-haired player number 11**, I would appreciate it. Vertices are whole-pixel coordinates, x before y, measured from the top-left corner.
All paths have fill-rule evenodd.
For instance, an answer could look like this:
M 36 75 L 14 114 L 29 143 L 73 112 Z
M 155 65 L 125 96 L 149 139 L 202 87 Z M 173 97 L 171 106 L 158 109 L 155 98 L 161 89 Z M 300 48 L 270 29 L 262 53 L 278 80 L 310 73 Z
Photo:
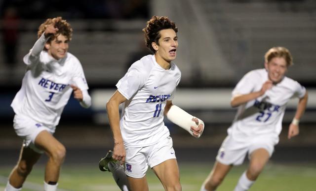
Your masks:
M 159 44 L 159 45 L 158 45 Z M 178 47 L 178 36 L 173 29 L 164 29 L 160 31 L 158 44 L 153 43 L 156 50 L 155 55 L 170 63 L 176 58 Z

